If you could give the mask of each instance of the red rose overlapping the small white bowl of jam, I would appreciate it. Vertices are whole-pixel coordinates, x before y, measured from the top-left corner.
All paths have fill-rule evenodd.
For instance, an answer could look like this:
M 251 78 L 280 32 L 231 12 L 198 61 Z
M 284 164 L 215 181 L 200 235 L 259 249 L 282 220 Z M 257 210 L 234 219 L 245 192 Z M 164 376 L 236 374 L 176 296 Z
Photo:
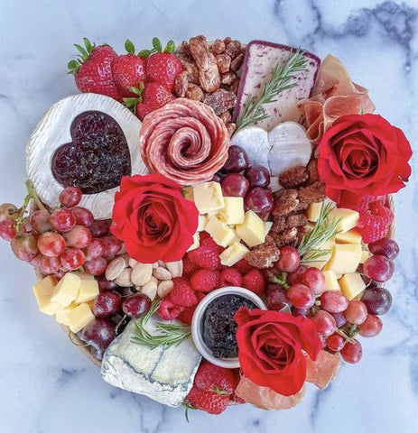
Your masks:
M 306 378 L 306 356 L 302 350 L 315 360 L 322 348 L 311 319 L 246 307 L 238 309 L 234 318 L 244 376 L 279 394 L 299 392 Z

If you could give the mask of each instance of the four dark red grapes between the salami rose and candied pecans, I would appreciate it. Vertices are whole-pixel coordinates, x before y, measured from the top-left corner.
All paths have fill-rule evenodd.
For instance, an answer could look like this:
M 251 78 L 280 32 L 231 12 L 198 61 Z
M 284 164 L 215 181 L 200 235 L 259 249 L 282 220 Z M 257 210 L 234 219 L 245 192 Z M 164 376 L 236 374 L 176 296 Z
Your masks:
M 268 188 L 270 173 L 262 165 L 250 166 L 242 147 L 229 147 L 228 160 L 213 180 L 220 183 L 224 196 L 244 198 L 246 210 L 260 214 L 272 211 L 273 195 Z

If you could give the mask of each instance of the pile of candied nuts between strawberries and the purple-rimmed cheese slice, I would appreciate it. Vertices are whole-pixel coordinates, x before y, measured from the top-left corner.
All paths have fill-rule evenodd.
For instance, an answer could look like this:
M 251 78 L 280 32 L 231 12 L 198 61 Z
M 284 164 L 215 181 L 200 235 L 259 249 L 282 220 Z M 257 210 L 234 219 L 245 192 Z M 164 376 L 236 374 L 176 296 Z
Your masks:
M 241 42 L 231 38 L 208 42 L 204 36 L 196 36 L 183 41 L 176 55 L 184 66 L 174 84 L 176 96 L 211 106 L 227 125 L 229 135 L 234 134 L 232 110 L 237 105 L 238 72 L 244 60 Z

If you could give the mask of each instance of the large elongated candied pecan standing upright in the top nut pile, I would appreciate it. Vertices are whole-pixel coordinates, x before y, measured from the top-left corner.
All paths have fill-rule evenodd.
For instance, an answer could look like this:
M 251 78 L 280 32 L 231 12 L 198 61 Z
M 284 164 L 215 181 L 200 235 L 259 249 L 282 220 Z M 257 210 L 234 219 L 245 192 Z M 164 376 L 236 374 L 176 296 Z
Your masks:
M 208 43 L 204 36 L 196 36 L 190 39 L 190 51 L 199 68 L 199 82 L 205 92 L 214 92 L 220 87 L 220 74 L 217 60 L 209 51 Z M 225 110 L 222 110 L 222 112 Z M 222 113 L 221 112 L 221 113 Z

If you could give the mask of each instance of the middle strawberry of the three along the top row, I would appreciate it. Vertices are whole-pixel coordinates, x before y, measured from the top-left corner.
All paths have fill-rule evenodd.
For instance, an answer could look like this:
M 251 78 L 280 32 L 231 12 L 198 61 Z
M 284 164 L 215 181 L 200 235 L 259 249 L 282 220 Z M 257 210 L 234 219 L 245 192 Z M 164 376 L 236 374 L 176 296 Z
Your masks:
M 112 74 L 119 93 L 123 97 L 135 97 L 131 88 L 137 88 L 145 80 L 146 59 L 135 55 L 135 46 L 128 39 L 125 41 L 125 50 L 127 54 L 113 60 Z

